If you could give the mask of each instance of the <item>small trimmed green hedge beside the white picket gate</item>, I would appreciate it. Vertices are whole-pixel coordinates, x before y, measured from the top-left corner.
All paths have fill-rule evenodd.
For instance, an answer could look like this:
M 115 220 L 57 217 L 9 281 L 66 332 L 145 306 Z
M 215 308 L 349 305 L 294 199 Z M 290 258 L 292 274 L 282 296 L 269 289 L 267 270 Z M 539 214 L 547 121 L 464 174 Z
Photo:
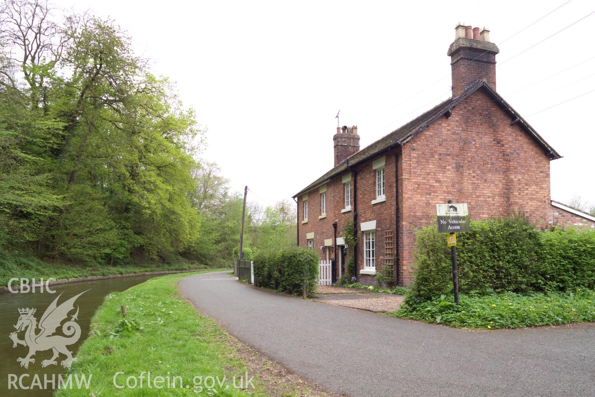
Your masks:
M 306 248 L 283 249 L 276 254 L 259 252 L 253 259 L 254 283 L 275 291 L 302 295 L 314 292 L 318 280 L 318 255 Z

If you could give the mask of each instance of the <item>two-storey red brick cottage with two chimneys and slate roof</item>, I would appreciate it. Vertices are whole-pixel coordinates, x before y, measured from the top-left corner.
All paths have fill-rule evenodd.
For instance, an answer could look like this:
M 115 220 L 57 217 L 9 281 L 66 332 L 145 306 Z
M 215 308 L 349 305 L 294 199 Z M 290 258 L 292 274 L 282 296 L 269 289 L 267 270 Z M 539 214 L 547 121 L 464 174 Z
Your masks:
M 476 220 L 522 210 L 543 226 L 577 223 L 550 200 L 550 161 L 561 156 L 496 92 L 498 52 L 488 30 L 459 24 L 450 99 L 361 150 L 356 126 L 337 127 L 334 167 L 293 196 L 298 245 L 335 260 L 334 277 L 345 273 L 342 232 L 352 223 L 353 276 L 369 283 L 386 264 L 407 285 L 414 228 L 448 199 L 468 203 Z

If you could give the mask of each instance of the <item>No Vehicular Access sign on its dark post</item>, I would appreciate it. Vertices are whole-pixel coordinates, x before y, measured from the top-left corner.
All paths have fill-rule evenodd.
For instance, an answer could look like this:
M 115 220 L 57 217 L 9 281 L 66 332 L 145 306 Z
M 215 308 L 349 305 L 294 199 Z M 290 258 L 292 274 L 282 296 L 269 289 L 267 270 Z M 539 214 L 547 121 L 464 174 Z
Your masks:
M 438 215 L 438 232 L 449 233 L 446 245 L 450 247 L 452 261 L 452 285 L 455 293 L 455 304 L 459 304 L 459 270 L 456 265 L 456 234 L 455 232 L 469 232 L 469 211 L 466 204 L 436 204 Z

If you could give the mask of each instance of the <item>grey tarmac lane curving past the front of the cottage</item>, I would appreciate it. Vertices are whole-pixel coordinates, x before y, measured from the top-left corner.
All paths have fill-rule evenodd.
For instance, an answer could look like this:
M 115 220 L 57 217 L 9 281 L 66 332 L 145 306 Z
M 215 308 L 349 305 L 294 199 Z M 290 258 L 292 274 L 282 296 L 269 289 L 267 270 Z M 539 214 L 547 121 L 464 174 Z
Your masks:
M 346 395 L 595 395 L 595 324 L 469 332 L 270 293 L 221 273 L 186 277 L 179 289 L 238 339 Z

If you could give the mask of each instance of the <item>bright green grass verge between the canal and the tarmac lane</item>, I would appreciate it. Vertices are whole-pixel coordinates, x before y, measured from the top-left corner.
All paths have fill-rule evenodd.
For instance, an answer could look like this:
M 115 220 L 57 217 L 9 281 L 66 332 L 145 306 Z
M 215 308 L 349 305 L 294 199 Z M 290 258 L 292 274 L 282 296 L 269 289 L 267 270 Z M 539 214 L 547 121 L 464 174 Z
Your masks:
M 73 374 L 92 374 L 89 390 L 61 389 L 55 396 L 248 395 L 247 390 L 233 387 L 231 377 L 245 374 L 245 364 L 234 357 L 233 348 L 226 343 L 227 333 L 180 297 L 176 285 L 186 276 L 156 277 L 108 295 L 92 318 L 91 335 L 80 347 L 78 361 L 70 370 Z M 128 323 L 123 321 L 120 305 L 126 305 Z M 139 377 L 142 371 L 151 371 L 152 378 L 166 377 L 168 373 L 171 377 L 181 376 L 184 387 L 190 388 L 149 389 L 145 380 L 143 389 L 117 389 L 112 382 L 118 371 L 124 372 L 118 376 L 118 384 L 126 382 L 128 376 Z M 195 393 L 196 376 L 227 376 L 227 381 L 223 388 Z M 261 394 L 259 389 L 248 390 L 250 395 Z

